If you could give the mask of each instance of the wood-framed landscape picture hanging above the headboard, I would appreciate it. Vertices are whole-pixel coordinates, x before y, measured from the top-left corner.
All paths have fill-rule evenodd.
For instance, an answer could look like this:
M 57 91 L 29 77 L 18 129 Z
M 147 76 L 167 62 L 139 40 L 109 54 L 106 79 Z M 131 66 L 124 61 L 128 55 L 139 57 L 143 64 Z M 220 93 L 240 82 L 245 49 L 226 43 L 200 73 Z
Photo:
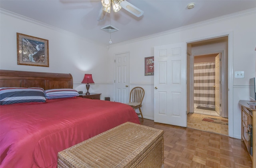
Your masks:
M 49 67 L 48 40 L 17 33 L 17 64 Z

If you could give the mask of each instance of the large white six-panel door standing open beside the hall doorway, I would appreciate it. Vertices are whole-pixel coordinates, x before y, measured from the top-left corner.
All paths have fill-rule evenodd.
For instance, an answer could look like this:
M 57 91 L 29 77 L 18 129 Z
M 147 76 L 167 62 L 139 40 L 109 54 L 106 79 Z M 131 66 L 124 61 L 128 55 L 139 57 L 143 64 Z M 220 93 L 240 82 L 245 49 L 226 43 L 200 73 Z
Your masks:
M 154 121 L 186 127 L 186 43 L 154 47 Z

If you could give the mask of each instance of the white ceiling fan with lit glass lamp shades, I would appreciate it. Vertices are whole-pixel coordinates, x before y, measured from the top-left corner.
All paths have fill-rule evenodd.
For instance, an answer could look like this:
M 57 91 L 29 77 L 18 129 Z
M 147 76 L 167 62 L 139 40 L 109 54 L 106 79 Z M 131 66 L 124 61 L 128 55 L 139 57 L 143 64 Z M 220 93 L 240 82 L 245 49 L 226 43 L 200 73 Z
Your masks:
M 98 21 L 104 20 L 106 12 L 110 13 L 111 4 L 114 12 L 118 12 L 121 8 L 124 8 L 125 10 L 137 17 L 142 16 L 142 14 L 144 13 L 142 10 L 130 4 L 126 0 L 101 0 L 101 3 L 102 9 L 100 10 Z

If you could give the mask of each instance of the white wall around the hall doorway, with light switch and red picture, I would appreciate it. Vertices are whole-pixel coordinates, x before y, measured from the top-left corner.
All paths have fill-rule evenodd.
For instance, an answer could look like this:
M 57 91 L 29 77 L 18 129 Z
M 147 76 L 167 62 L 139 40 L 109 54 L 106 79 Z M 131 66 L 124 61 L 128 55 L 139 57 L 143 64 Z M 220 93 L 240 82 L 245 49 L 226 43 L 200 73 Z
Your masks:
M 214 35 L 232 32 L 233 51 L 230 52 L 229 58 L 232 58 L 231 67 L 233 68 L 229 75 L 233 84 L 233 114 L 231 123 L 234 123 L 232 137 L 241 138 L 241 111 L 238 106 L 240 99 L 248 100 L 248 81 L 255 75 L 255 51 L 256 46 L 256 11 L 246 11 L 243 14 L 222 17 L 198 24 L 186 26 L 180 29 L 171 30 L 155 36 L 140 38 L 130 42 L 114 44 L 109 49 L 109 60 L 113 59 L 115 53 L 130 52 L 130 83 L 138 86 L 146 85 L 145 96 L 153 97 L 154 93 L 154 76 L 144 76 L 144 57 L 154 56 L 154 46 L 165 44 L 175 44 L 180 42 L 191 42 L 193 39 L 202 40 Z M 113 64 L 112 61 L 109 62 Z M 110 66 L 113 67 L 113 66 Z M 112 69 L 112 71 L 114 71 Z M 245 78 L 232 78 L 235 71 L 244 71 Z M 114 78 L 112 76 L 112 78 Z M 240 91 L 239 88 L 242 88 Z M 149 95 L 147 95 L 149 94 Z M 154 101 L 152 98 L 143 100 L 142 112 L 144 118 L 154 118 Z

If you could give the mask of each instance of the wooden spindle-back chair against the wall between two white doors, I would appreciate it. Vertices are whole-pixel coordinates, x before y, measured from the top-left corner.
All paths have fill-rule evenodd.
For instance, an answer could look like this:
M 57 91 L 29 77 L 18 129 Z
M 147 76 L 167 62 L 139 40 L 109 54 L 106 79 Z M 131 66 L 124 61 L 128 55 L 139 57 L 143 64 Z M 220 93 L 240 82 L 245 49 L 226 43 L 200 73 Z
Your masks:
M 135 111 L 136 108 L 139 108 L 140 113 L 137 113 L 137 115 L 141 115 L 142 120 L 143 120 L 143 115 L 142 115 L 142 112 L 141 112 L 140 108 L 142 106 L 142 100 L 144 98 L 144 95 L 145 95 L 145 91 L 144 91 L 143 88 L 135 87 L 130 92 L 129 103 L 126 103 L 129 106 L 131 106 L 134 109 L 134 111 Z

